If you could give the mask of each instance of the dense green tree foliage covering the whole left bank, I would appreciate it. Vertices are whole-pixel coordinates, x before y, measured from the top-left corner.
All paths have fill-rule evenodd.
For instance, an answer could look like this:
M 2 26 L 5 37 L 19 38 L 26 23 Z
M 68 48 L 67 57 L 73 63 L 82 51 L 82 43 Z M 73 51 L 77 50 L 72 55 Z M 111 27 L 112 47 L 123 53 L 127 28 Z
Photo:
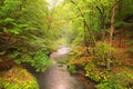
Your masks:
M 52 39 L 45 21 L 48 14 L 47 2 L 42 0 L 1 0 L 1 59 L 27 62 L 44 71 L 50 65 L 48 55 Z

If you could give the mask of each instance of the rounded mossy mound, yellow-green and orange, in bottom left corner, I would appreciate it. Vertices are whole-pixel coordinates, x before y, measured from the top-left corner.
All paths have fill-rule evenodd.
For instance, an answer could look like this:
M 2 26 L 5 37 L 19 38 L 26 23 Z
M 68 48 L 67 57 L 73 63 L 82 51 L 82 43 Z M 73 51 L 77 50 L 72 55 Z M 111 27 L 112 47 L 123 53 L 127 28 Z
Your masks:
M 21 67 L 13 67 L 0 77 L 0 88 L 39 89 L 35 78 Z

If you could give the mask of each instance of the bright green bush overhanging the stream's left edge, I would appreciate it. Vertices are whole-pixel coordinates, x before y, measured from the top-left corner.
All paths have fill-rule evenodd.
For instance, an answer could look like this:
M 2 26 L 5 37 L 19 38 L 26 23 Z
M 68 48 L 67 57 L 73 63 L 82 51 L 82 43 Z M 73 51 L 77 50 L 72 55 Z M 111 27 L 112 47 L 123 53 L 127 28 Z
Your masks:
M 23 55 L 21 59 L 16 60 L 18 63 L 30 63 L 37 71 L 45 71 L 47 67 L 52 66 L 52 61 L 43 51 L 34 51 L 31 56 Z

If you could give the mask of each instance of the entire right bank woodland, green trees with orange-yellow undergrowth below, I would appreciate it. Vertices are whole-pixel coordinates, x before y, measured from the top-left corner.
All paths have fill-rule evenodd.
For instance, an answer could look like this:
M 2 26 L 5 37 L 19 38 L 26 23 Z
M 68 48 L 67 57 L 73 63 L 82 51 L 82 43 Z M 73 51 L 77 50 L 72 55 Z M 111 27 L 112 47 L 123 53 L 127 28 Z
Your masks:
M 98 89 L 132 88 L 126 83 L 130 75 L 125 75 L 127 81 L 117 79 L 125 77 L 120 76 L 123 71 L 133 72 L 127 63 L 133 53 L 132 4 L 132 0 L 64 0 L 53 10 L 53 18 L 65 22 L 60 29 L 72 47 L 68 62 L 71 73 L 84 71 L 86 78 L 100 83 Z

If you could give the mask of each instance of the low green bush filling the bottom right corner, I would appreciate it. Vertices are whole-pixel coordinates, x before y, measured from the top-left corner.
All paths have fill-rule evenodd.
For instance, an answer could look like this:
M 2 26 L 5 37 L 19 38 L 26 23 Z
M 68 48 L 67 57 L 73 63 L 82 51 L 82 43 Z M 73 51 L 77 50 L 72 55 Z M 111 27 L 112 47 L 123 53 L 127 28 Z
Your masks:
M 133 89 L 133 72 L 121 72 L 109 81 L 101 82 L 98 89 Z

